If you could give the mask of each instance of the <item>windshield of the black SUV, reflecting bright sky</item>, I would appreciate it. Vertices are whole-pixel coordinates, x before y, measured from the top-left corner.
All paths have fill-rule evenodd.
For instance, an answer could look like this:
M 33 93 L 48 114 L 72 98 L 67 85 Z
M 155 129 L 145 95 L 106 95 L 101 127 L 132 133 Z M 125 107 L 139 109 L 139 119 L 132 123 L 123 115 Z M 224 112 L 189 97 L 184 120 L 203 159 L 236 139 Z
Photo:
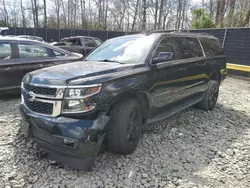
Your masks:
M 107 40 L 89 54 L 86 61 L 144 63 L 155 41 L 153 36 L 134 35 Z

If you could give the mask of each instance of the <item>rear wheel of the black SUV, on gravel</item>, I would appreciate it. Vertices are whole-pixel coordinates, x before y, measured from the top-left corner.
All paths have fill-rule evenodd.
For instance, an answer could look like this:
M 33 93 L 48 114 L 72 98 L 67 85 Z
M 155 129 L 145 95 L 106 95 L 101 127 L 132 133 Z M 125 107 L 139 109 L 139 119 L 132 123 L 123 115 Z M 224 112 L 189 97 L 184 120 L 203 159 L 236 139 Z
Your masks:
M 217 102 L 219 96 L 219 83 L 214 80 L 210 80 L 208 83 L 208 89 L 205 93 L 204 99 L 196 106 L 202 110 L 212 110 Z

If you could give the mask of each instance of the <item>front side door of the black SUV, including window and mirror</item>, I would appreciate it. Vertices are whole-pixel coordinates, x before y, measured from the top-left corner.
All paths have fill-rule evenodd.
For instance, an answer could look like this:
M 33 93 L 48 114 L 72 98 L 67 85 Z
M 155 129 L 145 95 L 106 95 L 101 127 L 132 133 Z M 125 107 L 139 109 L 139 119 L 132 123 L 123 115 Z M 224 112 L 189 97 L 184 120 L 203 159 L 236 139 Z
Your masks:
M 167 37 L 159 42 L 153 56 L 157 63 L 151 78 L 154 83 L 149 90 L 152 102 L 151 117 L 165 112 L 167 108 L 171 108 L 171 104 L 179 103 L 188 95 L 185 90 L 188 82 L 184 80 L 192 73 L 181 58 L 182 46 L 178 38 Z

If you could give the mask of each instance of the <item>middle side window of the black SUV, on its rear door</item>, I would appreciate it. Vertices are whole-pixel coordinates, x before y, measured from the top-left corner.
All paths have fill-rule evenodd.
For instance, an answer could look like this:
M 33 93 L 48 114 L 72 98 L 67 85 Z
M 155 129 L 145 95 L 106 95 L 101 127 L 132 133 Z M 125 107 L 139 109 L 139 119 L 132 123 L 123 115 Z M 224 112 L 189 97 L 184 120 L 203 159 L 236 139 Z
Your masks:
M 180 38 L 182 44 L 182 59 L 202 57 L 202 49 L 197 38 Z

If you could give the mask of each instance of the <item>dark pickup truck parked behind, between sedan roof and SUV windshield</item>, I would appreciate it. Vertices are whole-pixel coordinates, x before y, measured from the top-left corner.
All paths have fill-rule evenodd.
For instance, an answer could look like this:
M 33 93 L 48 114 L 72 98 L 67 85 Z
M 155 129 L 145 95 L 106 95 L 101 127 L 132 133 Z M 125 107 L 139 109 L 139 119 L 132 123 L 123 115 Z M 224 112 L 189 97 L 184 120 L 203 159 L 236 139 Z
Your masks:
M 100 44 L 102 44 L 102 40 L 99 38 L 87 36 L 73 36 L 62 38 L 61 41 L 52 45 L 86 56 L 89 52 L 94 50 Z

